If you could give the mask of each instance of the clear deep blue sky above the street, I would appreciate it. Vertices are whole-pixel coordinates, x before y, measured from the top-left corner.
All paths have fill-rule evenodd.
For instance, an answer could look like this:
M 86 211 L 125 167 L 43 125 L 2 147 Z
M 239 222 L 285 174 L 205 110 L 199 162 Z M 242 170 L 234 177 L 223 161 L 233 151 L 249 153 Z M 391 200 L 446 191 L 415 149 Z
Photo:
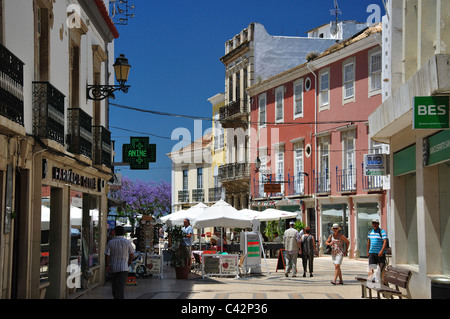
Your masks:
M 132 65 L 128 94 L 116 94 L 112 103 L 146 110 L 211 117 L 208 98 L 225 90 L 225 68 L 220 57 L 225 42 L 252 22 L 274 36 L 306 36 L 306 31 L 334 20 L 333 0 L 130 0 L 135 18 L 120 33 L 115 53 L 124 53 Z M 382 0 L 338 0 L 340 20 L 366 22 L 375 4 L 384 14 Z M 211 122 L 203 121 L 203 131 Z M 157 162 L 148 171 L 116 167 L 123 176 L 143 181 L 170 182 L 171 162 L 166 156 L 179 141 L 170 140 L 176 128 L 187 128 L 194 139 L 194 121 L 110 106 L 110 130 L 116 162 L 130 136 L 150 136 L 157 144 Z M 118 129 L 120 128 L 120 129 Z M 135 132 L 146 134 L 139 134 Z M 156 137 L 156 136 L 158 137 Z

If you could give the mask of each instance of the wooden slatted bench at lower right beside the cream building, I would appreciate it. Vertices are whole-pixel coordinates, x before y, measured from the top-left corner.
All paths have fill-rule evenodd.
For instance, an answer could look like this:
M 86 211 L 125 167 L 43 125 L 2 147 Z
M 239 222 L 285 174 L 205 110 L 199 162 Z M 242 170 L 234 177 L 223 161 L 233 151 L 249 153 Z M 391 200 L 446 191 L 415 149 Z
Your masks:
M 372 290 L 377 293 L 377 298 L 381 299 L 381 295 L 385 298 L 393 299 L 394 296 L 398 298 L 411 299 L 411 292 L 409 291 L 409 281 L 411 280 L 412 272 L 400 267 L 387 266 L 383 272 L 384 284 L 372 282 L 367 277 L 355 277 L 361 283 L 362 298 L 366 298 L 366 291 L 369 291 L 369 298 L 372 299 Z

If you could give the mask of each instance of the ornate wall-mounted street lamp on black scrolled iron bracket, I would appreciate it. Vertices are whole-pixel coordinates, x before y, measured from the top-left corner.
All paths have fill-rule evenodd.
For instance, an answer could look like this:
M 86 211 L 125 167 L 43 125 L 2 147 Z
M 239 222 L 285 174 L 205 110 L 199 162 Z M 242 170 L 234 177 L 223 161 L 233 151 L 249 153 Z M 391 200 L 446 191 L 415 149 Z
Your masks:
M 88 85 L 86 96 L 89 100 L 101 101 L 109 97 L 114 98 L 114 92 L 116 91 L 128 93 L 130 86 L 125 85 L 128 81 L 128 75 L 130 74 L 131 69 L 128 59 L 124 54 L 121 54 L 116 59 L 113 66 L 116 80 L 119 85 Z

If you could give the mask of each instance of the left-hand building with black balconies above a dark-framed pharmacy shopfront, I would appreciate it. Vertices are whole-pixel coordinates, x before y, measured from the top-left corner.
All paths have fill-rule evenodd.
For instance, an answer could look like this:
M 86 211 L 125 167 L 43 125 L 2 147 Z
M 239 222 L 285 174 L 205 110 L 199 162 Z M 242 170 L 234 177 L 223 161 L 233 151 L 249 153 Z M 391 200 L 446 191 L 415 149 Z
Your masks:
M 86 87 L 114 84 L 108 7 L 0 1 L 0 298 L 70 298 L 105 279 L 113 150 L 107 101 Z

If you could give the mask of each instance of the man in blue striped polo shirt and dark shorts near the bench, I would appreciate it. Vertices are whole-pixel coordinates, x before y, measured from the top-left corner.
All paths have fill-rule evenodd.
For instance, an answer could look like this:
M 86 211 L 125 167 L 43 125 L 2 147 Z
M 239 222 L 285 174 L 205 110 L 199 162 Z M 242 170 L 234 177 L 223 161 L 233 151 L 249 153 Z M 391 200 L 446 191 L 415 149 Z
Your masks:
M 384 229 L 381 229 L 378 219 L 372 220 L 373 229 L 367 235 L 367 256 L 369 256 L 369 279 L 372 279 L 373 272 L 380 267 L 380 273 L 383 272 L 386 265 L 386 248 L 387 248 L 387 234 Z

